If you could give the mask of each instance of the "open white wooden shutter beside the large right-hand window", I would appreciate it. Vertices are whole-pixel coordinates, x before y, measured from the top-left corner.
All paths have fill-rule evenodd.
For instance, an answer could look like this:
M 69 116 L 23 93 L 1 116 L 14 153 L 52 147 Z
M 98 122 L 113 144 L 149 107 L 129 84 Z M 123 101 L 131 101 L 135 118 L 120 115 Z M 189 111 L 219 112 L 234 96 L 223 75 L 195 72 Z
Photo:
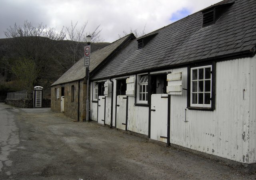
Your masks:
M 182 72 L 167 74 L 168 86 L 166 91 L 171 95 L 182 94 Z

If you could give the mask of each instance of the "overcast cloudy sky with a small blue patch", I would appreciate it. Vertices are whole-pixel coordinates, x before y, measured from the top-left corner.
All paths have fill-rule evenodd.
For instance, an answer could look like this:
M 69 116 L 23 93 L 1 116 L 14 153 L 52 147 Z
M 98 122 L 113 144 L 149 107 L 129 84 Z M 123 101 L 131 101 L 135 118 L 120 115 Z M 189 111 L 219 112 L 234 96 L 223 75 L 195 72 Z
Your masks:
M 86 32 L 98 25 L 104 42 L 113 42 L 130 28 L 145 32 L 171 24 L 221 0 L 0 0 L 0 38 L 14 23 L 25 20 L 34 26 L 42 23 L 60 30 L 70 26 L 71 20 L 79 27 L 88 21 Z

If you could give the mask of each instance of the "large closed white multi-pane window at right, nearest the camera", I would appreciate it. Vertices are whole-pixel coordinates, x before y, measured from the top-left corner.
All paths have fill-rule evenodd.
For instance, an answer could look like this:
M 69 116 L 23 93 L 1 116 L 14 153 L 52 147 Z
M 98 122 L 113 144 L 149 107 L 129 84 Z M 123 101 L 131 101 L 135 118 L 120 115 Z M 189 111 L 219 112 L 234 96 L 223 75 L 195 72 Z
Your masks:
M 190 69 L 190 106 L 212 107 L 212 65 Z

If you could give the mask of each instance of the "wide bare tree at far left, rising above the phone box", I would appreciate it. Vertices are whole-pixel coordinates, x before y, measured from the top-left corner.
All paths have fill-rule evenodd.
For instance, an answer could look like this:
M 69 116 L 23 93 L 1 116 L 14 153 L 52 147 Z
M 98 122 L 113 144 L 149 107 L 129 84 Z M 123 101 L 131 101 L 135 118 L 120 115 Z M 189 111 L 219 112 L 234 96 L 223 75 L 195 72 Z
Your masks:
M 24 58 L 24 61 L 32 60 L 37 71 L 34 84 L 42 86 L 49 84 L 48 81 L 54 72 L 56 49 L 65 38 L 63 28 L 58 32 L 55 28 L 48 28 L 42 23 L 33 26 L 26 20 L 22 26 L 16 23 L 10 26 L 4 34 L 11 41 L 8 57 L 5 59 L 9 69 L 14 73 L 13 67 L 20 58 Z

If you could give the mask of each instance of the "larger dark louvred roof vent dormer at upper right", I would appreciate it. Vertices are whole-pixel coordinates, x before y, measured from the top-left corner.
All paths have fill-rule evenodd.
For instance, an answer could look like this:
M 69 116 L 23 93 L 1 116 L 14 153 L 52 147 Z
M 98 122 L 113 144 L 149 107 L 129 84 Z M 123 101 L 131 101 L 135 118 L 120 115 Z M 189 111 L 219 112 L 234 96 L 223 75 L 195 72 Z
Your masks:
M 205 10 L 202 10 L 202 27 L 210 26 L 214 24 L 224 12 L 234 3 L 221 4 L 216 6 L 210 6 Z

